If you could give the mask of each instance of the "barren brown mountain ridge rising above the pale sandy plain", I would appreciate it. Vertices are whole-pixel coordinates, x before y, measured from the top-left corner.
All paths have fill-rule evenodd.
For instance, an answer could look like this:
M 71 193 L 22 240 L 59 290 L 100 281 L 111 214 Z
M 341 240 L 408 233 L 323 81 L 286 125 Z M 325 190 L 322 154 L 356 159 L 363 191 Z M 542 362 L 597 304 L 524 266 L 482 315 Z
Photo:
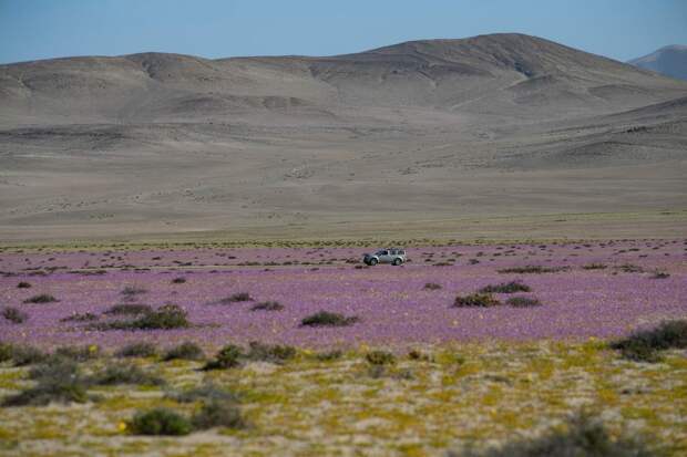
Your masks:
M 0 65 L 0 122 L 269 124 L 360 106 L 551 118 L 639 107 L 680 91 L 685 85 L 551 41 L 494 34 L 331 58 L 144 53 Z

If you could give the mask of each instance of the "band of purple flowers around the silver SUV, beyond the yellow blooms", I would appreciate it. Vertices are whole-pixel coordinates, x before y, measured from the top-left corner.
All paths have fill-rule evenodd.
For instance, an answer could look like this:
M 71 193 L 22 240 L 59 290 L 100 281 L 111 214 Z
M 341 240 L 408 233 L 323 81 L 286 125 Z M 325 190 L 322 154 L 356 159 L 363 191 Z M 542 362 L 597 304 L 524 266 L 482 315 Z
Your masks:
M 452 341 L 613 337 L 663 320 L 687 316 L 684 240 L 484 245 L 409 248 L 402 267 L 360 268 L 366 248 L 199 248 L 0 253 L 0 308 L 28 313 L 23 323 L 0 318 L 3 341 L 41 346 L 117 347 L 148 340 L 193 340 L 208 347 L 228 342 L 301 347 L 358 344 L 406 347 Z M 499 272 L 513 267 L 563 267 L 555 272 Z M 586 267 L 586 268 L 585 268 Z M 602 268 L 603 267 L 603 268 Z M 663 272 L 666 274 L 656 274 Z M 185 282 L 173 283 L 184 278 Z M 458 294 L 517 280 L 542 305 L 454 308 Z M 19 282 L 30 288 L 18 288 Z M 424 285 L 435 283 L 441 289 Z M 126 287 L 145 290 L 131 303 L 174 303 L 188 313 L 182 330 L 89 330 L 62 322 L 74 313 L 125 303 Z M 246 292 L 253 300 L 219 301 Z M 58 301 L 24 303 L 38 294 Z M 253 311 L 276 301 L 279 311 Z M 359 321 L 341 328 L 301 326 L 320 310 Z

